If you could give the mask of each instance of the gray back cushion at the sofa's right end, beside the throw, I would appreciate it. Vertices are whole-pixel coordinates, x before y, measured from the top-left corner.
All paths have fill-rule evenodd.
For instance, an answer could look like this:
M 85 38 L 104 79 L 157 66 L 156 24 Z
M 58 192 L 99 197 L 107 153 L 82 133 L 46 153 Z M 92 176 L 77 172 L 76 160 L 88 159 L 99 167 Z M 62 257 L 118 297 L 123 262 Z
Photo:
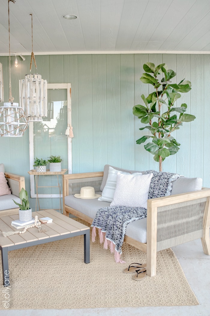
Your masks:
M 202 189 L 201 178 L 179 177 L 172 182 L 171 195 L 197 191 Z

